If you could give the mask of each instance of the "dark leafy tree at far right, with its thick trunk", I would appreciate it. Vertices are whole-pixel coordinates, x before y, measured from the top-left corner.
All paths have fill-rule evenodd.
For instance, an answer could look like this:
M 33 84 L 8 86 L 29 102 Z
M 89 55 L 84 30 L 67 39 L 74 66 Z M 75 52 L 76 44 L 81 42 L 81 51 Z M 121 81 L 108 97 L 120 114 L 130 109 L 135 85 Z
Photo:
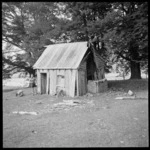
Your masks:
M 122 2 L 113 3 L 113 7 L 102 20 L 105 44 L 118 59 L 129 61 L 131 75 L 140 78 L 140 63 L 148 61 L 148 4 Z

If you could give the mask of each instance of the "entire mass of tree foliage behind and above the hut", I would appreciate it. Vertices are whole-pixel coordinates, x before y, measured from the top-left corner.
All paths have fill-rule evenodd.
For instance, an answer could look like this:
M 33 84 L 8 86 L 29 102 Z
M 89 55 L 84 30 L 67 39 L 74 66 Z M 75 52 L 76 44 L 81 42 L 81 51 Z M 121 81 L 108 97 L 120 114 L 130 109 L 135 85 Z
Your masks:
M 45 45 L 88 41 L 92 36 L 98 37 L 106 64 L 115 55 L 131 73 L 139 64 L 147 65 L 147 2 L 5 2 L 2 27 L 3 40 L 26 52 L 14 62 L 3 55 L 3 61 L 30 73 Z

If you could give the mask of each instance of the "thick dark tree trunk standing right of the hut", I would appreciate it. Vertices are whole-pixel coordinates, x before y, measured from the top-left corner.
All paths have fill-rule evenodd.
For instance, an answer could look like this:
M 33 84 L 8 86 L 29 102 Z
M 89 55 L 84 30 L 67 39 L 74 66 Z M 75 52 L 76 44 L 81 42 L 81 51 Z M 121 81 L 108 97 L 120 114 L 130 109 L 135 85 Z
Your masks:
M 130 62 L 131 77 L 130 79 L 141 79 L 140 63 Z

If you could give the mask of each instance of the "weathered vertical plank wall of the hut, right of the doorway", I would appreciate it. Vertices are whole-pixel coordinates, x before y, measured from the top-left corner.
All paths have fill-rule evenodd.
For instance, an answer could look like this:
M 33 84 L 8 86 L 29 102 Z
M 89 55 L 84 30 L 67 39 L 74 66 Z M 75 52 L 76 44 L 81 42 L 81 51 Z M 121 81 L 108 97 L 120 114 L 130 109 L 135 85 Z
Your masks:
M 86 72 L 84 70 L 49 70 L 47 72 L 47 93 L 56 94 L 57 75 L 64 75 L 64 89 L 67 96 L 75 96 L 75 84 L 77 85 L 77 95 L 86 93 Z

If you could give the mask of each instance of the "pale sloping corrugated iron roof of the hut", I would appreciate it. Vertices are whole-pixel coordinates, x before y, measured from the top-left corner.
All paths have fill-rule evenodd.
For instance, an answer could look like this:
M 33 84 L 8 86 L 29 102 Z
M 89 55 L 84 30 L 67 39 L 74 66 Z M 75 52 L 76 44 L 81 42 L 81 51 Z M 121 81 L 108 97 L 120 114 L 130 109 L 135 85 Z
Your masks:
M 35 69 L 77 69 L 87 49 L 87 42 L 49 45 L 33 67 Z

